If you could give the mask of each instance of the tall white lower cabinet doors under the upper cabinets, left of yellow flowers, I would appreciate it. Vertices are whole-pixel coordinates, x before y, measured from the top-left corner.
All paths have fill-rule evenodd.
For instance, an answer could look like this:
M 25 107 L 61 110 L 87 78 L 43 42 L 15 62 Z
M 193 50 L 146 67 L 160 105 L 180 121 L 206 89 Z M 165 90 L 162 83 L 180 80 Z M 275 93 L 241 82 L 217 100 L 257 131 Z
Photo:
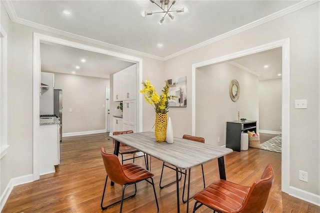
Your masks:
M 135 100 L 123 101 L 123 130 L 135 132 Z

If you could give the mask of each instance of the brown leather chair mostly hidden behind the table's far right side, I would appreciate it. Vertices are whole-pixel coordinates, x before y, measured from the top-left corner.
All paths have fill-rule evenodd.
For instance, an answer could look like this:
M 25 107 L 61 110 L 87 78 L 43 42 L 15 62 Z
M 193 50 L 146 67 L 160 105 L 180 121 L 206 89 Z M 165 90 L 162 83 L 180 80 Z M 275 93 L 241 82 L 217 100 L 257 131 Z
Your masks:
M 197 141 L 197 142 L 203 142 L 204 143 L 204 138 L 203 137 L 197 137 L 197 136 L 192 136 L 192 135 L 188 135 L 188 134 L 183 134 L 182 136 L 183 139 L 188 139 L 188 140 L 193 140 L 193 141 Z M 164 188 L 168 185 L 171 185 L 172 183 L 175 183 L 176 180 L 172 181 L 172 182 L 169 182 L 165 185 L 161 185 L 161 180 L 162 180 L 162 173 L 163 173 L 163 168 L 165 167 L 168 167 L 168 168 L 171 168 L 173 170 L 175 170 L 175 168 L 169 166 L 169 165 L 166 165 L 164 162 L 162 163 L 162 170 L 161 170 L 161 176 L 160 176 L 160 181 L 159 181 L 159 186 L 160 188 Z M 203 179 L 203 188 L 205 188 L 205 181 L 204 181 L 204 172 L 203 172 L 203 165 L 201 164 L 201 169 L 202 169 L 202 179 Z M 183 190 L 182 190 L 182 202 L 185 203 L 187 200 L 184 200 L 184 191 L 185 191 L 185 180 L 186 180 L 186 170 L 184 170 L 184 172 L 180 169 L 180 177 L 179 177 L 179 180 L 181 179 L 182 177 L 182 174 L 184 174 L 184 182 L 183 182 Z M 189 199 L 192 198 L 189 197 Z

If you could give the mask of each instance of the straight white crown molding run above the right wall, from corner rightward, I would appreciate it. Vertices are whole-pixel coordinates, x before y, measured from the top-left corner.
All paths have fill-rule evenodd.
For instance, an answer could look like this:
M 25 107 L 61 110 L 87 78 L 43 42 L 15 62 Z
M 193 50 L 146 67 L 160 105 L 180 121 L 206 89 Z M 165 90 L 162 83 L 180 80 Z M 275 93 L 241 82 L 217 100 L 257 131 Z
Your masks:
M 238 27 L 236 29 L 233 29 L 233 30 L 228 31 L 226 33 L 223 33 L 221 35 L 218 35 L 218 36 L 215 36 L 213 38 L 210 38 L 210 39 L 205 40 L 205 41 L 203 41 L 201 43 L 198 43 L 198 44 L 195 44 L 195 45 L 190 46 L 188 48 L 185 48 L 185 49 L 183 49 L 181 51 L 175 52 L 175 53 L 173 53 L 171 55 L 168 55 L 168 56 L 164 57 L 164 60 L 171 59 L 173 57 L 179 56 L 181 54 L 184 54 L 186 52 L 192 51 L 194 49 L 206 46 L 208 44 L 211 44 L 211 43 L 214 43 L 216 41 L 222 40 L 224 38 L 230 37 L 232 35 L 238 34 L 240 32 L 243 32 L 243 31 L 245 31 L 247 29 L 250 29 L 250 28 L 253 28 L 255 26 L 267 23 L 267 22 L 269 22 L 271 20 L 277 19 L 277 18 L 282 17 L 282 16 L 284 16 L 286 14 L 289 14 L 289 13 L 292 13 L 292 12 L 297 11 L 299 9 L 302 9 L 302 8 L 304 8 L 306 6 L 309 6 L 309 5 L 313 4 L 313 3 L 316 3 L 318 1 L 319 0 L 303 0 L 303 1 L 298 2 L 298 3 L 296 3 L 296 4 L 292 5 L 292 6 L 289 6 L 287 8 L 284 8 L 284 9 L 280 10 L 280 11 L 274 12 L 274 13 L 272 13 L 272 14 L 270 14 L 268 16 L 265 16 L 263 18 L 260 18 L 258 20 L 255 20 L 255 21 L 253 21 L 251 23 L 248 23 L 246 25 L 240 26 L 240 27 Z

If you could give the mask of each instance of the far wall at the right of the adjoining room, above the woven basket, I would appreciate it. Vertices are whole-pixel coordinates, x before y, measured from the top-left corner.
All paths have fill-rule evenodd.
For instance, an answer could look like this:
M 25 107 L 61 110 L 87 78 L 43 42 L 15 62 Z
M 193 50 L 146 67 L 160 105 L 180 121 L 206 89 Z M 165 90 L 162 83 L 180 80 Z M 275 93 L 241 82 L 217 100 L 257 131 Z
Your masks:
M 281 80 L 259 81 L 259 129 L 281 131 Z

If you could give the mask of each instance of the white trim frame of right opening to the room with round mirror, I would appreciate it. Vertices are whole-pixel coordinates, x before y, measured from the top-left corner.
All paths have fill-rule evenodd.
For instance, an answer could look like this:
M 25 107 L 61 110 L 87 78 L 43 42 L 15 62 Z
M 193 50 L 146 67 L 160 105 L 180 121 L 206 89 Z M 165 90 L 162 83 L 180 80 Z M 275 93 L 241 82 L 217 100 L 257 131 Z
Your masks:
M 290 38 L 284 38 L 264 45 L 212 58 L 192 64 L 191 111 L 192 135 L 195 135 L 195 71 L 197 68 L 223 62 L 237 57 L 282 47 L 282 153 L 281 153 L 281 190 L 290 193 Z

